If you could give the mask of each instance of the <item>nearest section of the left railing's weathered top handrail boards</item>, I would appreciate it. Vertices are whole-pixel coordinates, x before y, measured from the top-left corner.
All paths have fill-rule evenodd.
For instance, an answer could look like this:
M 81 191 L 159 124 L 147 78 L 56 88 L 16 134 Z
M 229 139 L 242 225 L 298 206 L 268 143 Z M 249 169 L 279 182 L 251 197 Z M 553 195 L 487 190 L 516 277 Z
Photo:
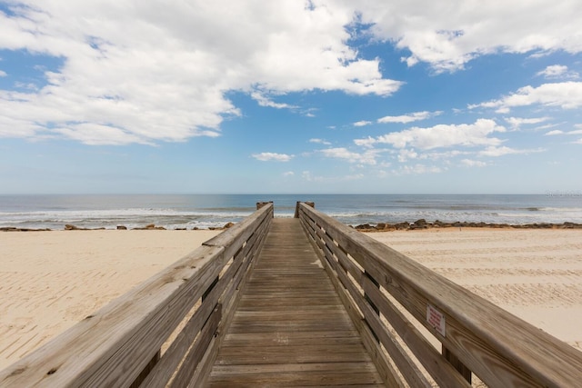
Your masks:
M 216 278 L 223 252 L 196 249 L 0 372 L 0 385 L 129 385 Z

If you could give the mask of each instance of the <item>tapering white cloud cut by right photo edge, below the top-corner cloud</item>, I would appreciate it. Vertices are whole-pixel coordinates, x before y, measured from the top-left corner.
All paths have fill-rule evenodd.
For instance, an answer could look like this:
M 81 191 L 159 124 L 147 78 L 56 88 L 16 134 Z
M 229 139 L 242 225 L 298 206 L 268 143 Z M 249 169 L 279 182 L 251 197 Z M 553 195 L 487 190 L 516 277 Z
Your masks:
M 479 106 L 497 108 L 499 113 L 507 113 L 516 106 L 529 106 L 542 104 L 546 106 L 558 106 L 562 109 L 575 109 L 582 106 L 582 82 L 564 82 L 544 84 L 538 87 L 525 86 L 517 90 L 513 95 L 508 95 L 499 100 L 487 103 L 469 105 L 469 109 Z

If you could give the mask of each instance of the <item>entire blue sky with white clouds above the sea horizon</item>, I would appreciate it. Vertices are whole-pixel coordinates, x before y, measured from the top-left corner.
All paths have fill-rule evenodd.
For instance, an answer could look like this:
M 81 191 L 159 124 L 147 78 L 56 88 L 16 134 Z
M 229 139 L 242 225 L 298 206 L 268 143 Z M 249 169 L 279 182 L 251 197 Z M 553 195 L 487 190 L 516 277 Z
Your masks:
M 581 193 L 580 20 L 578 0 L 0 1 L 0 194 Z

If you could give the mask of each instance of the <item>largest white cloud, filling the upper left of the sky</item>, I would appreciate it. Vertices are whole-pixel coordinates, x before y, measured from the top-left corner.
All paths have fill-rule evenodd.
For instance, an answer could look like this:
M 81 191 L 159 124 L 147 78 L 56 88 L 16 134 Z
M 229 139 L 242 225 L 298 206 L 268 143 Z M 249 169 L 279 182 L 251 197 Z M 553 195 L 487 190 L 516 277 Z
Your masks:
M 0 91 L 0 115 L 20 124 L 4 136 L 65 135 L 95 144 L 97 135 L 86 133 L 92 124 L 118 130 L 99 132 L 110 136 L 105 144 L 184 141 L 216 135 L 225 117 L 241 114 L 230 91 L 292 108 L 272 97 L 311 90 L 391 95 L 401 85 L 383 78 L 379 59 L 366 60 L 347 45 L 351 6 L 306 7 L 296 0 L 11 3 L 13 13 L 0 13 L 0 49 L 62 58 L 63 65 L 45 71 L 40 90 Z

